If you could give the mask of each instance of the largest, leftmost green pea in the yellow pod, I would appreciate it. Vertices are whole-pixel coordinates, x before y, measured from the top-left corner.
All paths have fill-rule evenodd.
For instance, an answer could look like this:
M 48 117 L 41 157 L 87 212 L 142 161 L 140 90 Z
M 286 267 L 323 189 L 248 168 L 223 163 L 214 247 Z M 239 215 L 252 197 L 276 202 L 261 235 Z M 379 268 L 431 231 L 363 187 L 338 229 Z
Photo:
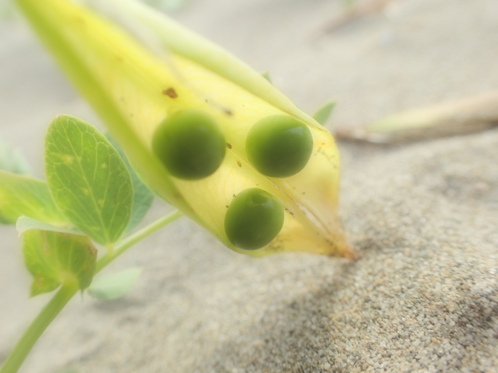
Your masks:
M 225 157 L 226 142 L 211 116 L 185 109 L 168 116 L 152 137 L 152 150 L 171 175 L 198 180 L 213 174 Z

